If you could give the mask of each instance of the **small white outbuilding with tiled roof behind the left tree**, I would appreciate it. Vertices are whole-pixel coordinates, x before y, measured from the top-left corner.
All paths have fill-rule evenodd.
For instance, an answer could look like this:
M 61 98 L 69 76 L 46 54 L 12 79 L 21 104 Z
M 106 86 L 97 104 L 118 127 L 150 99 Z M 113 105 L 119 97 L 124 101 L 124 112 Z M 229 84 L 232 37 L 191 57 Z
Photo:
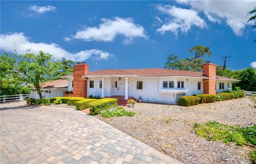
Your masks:
M 59 79 L 41 84 L 43 98 L 52 98 L 63 96 L 63 92 L 68 91 L 68 80 Z M 32 88 L 29 93 L 30 98 L 39 99 L 39 94 Z

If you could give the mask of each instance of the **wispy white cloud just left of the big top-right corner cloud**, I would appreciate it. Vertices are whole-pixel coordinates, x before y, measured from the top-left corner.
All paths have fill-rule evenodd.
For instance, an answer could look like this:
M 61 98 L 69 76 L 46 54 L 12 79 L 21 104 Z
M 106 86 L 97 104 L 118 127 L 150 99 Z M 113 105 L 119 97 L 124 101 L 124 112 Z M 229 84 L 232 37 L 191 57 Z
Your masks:
M 169 15 L 171 18 L 171 21 L 166 22 L 161 28 L 157 29 L 159 33 L 163 34 L 166 31 L 171 31 L 175 36 L 178 36 L 179 29 L 181 32 L 187 33 L 192 25 L 201 29 L 206 27 L 204 20 L 194 10 L 161 4 L 156 5 L 156 8 L 158 11 Z

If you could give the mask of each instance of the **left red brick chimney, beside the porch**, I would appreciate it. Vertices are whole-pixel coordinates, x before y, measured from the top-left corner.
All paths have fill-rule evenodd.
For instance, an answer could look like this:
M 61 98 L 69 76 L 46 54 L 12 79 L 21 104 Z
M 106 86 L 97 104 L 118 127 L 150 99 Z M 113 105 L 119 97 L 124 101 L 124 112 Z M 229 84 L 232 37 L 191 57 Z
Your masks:
M 89 65 L 77 63 L 74 65 L 74 80 L 73 80 L 73 96 L 74 97 L 87 97 L 87 80 L 82 76 L 89 73 Z

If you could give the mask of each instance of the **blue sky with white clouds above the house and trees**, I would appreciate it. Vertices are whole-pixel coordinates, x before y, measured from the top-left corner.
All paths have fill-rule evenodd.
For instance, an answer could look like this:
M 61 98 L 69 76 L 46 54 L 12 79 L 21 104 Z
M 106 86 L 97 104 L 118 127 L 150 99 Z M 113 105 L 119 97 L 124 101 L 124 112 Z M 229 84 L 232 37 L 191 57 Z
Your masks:
M 246 13 L 255 1 L 1 1 L 1 50 L 49 52 L 90 71 L 164 67 L 170 54 L 209 46 L 207 61 L 232 70 L 256 62 Z M 254 63 L 256 65 L 256 63 Z

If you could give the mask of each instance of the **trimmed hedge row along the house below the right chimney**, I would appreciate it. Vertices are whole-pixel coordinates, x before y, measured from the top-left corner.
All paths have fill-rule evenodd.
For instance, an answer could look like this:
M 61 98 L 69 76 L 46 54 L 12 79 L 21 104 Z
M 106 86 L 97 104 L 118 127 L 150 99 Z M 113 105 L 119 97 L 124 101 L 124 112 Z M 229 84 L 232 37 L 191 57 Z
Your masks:
M 198 103 L 211 103 L 215 101 L 224 101 L 231 99 L 238 99 L 244 97 L 243 91 L 231 91 L 228 93 L 217 93 L 213 94 L 194 94 L 194 96 L 181 96 L 177 101 L 177 105 L 180 106 L 193 106 L 198 105 Z M 198 101 L 199 98 L 199 101 Z M 197 103 L 198 101 L 198 103 Z

